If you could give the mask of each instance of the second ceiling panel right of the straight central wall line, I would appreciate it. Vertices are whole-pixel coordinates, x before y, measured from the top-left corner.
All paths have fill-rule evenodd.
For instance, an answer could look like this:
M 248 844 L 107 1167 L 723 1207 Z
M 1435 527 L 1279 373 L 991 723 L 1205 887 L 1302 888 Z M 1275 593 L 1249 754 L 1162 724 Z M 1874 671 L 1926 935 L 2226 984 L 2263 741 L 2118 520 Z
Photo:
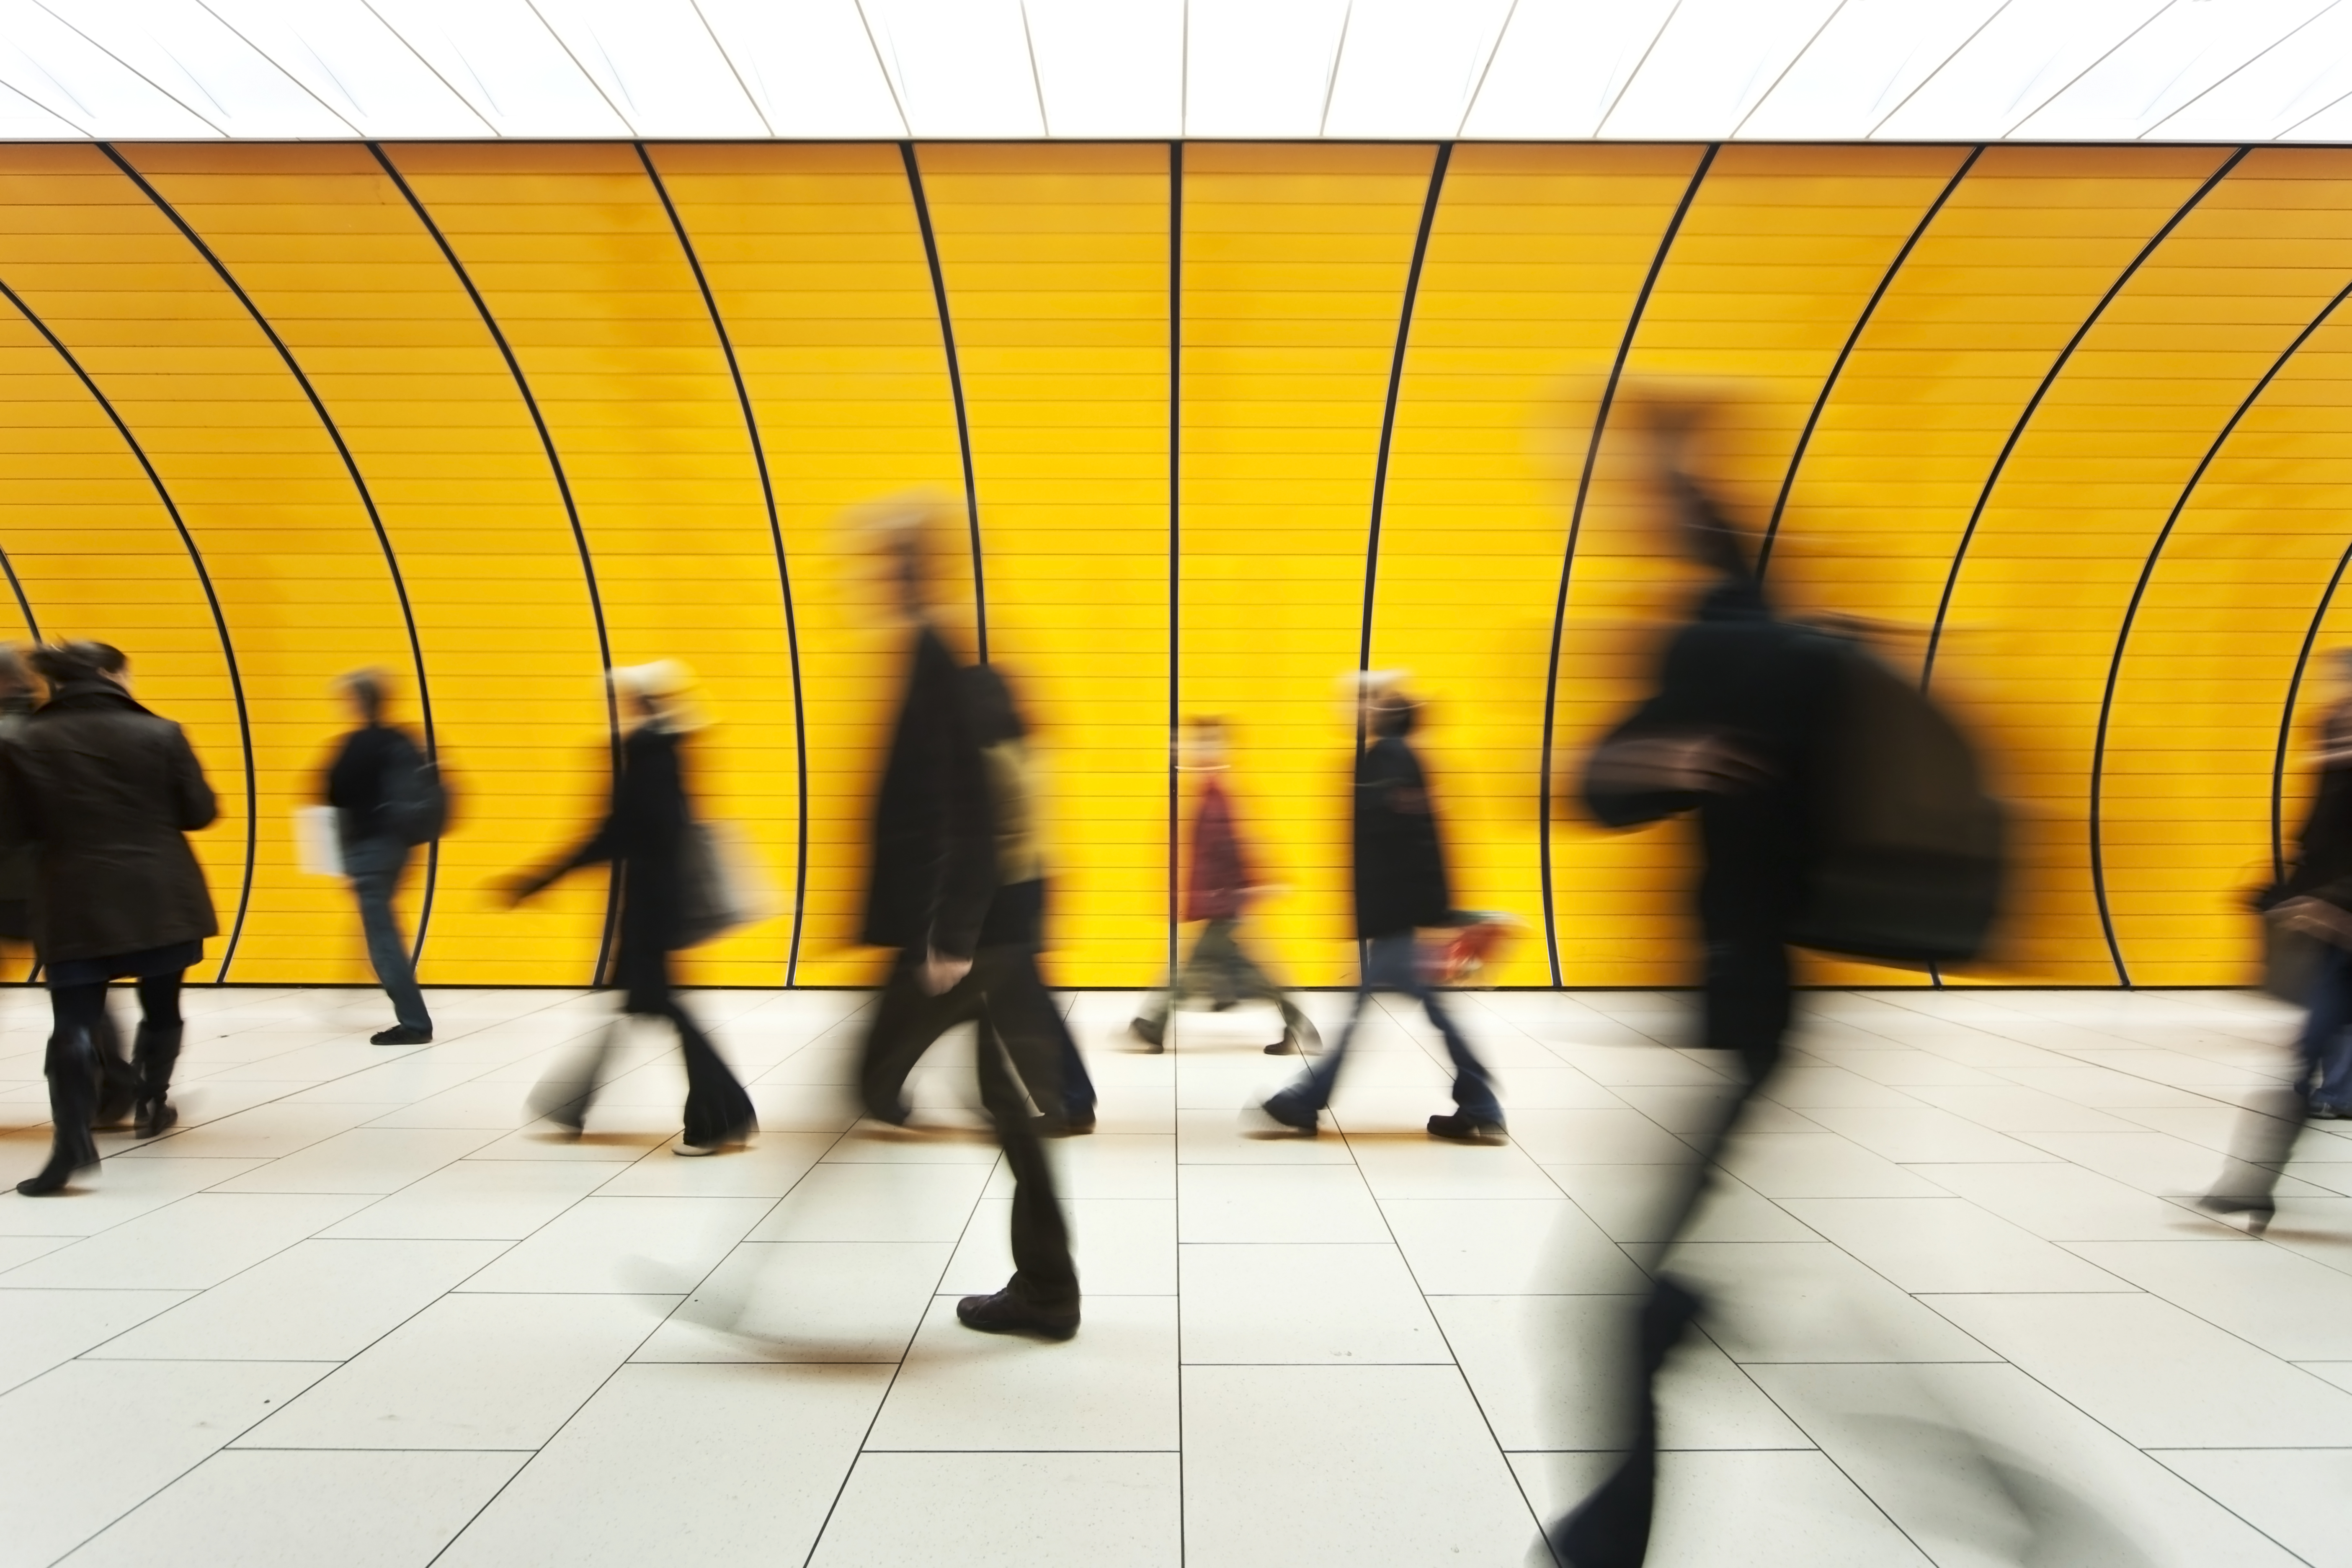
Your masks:
M 1355 0 L 1327 136 L 1458 136 L 1510 0 Z

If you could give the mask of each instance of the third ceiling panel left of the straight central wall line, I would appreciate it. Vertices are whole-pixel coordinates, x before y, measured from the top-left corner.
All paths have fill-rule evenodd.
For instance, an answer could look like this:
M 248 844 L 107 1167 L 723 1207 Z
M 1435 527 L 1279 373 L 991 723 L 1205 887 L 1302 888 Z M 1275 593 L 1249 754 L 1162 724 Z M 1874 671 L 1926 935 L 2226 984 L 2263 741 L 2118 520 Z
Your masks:
M 696 0 L 696 9 L 771 134 L 908 134 L 856 0 Z

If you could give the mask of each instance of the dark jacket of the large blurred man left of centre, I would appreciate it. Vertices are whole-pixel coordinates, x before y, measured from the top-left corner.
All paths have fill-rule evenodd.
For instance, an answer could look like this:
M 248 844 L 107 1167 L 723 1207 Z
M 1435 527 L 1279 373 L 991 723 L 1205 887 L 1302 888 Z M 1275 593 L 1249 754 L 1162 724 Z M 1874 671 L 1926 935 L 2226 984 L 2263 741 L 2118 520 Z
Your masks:
M 955 654 L 924 625 L 875 792 L 861 940 L 971 957 L 997 891 L 997 844 Z

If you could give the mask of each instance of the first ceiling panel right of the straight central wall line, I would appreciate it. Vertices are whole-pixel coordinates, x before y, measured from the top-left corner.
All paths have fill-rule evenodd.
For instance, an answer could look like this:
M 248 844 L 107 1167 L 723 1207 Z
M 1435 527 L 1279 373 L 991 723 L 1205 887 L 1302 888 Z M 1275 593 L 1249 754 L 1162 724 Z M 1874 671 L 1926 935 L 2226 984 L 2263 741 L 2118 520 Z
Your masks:
M 1190 0 L 1188 136 L 1322 136 L 1348 0 Z

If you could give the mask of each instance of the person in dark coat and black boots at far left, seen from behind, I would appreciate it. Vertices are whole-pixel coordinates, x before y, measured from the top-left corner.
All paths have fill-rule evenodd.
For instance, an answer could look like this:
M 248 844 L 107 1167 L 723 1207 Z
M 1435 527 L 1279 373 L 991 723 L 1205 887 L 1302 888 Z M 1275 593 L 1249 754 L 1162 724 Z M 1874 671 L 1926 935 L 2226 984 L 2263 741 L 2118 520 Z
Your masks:
M 132 698 L 118 649 L 45 646 L 33 668 L 49 682 L 49 701 L 0 745 L 0 842 L 40 844 L 33 933 L 52 1009 L 42 1063 L 52 1150 L 16 1192 L 42 1197 L 99 1161 L 89 1124 L 111 980 L 139 987 L 136 1135 L 153 1138 L 179 1119 L 169 1088 L 183 1032 L 181 976 L 221 926 L 186 839 L 216 816 L 186 731 Z

